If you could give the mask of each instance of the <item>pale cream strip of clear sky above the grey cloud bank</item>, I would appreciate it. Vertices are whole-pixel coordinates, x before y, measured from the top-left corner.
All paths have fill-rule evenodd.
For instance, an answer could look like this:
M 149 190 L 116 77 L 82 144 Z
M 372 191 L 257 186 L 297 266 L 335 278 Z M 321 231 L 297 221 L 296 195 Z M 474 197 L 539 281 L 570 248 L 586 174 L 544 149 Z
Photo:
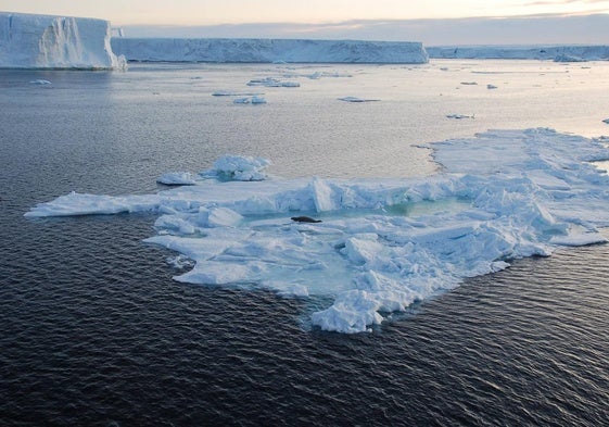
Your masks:
M 609 0 L 0 0 L 0 11 L 99 17 L 115 26 L 337 23 L 609 14 Z

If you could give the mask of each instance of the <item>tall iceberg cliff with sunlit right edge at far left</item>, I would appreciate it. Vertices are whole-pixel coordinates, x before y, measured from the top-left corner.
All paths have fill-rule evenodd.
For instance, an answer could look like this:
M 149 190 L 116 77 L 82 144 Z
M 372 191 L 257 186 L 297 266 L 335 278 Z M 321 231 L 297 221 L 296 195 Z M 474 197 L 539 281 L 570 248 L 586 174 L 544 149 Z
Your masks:
M 107 21 L 0 12 L 0 67 L 120 68 Z

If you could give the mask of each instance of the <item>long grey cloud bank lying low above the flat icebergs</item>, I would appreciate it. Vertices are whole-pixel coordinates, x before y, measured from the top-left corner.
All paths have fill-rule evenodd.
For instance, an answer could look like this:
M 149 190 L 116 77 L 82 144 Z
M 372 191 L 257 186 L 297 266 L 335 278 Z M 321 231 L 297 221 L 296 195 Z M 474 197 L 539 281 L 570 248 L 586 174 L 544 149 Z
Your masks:
M 325 24 L 128 26 L 126 37 L 411 40 L 439 45 L 609 45 L 609 15 L 357 20 Z

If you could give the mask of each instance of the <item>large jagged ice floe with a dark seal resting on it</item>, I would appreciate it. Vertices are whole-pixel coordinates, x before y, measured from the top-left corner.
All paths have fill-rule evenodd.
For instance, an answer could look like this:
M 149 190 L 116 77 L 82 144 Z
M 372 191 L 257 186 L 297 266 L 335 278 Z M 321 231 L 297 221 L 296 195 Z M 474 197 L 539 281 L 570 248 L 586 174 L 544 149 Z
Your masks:
M 227 156 L 193 186 L 148 196 L 73 192 L 25 215 L 158 214 L 157 234 L 145 241 L 194 262 L 176 280 L 326 296 L 313 325 L 360 332 L 515 259 L 605 242 L 609 176 L 593 162 L 609 159 L 606 142 L 491 130 L 431 145 L 440 172 L 404 179 L 234 180 L 263 178 L 267 162 Z M 300 215 L 322 222 L 290 219 Z

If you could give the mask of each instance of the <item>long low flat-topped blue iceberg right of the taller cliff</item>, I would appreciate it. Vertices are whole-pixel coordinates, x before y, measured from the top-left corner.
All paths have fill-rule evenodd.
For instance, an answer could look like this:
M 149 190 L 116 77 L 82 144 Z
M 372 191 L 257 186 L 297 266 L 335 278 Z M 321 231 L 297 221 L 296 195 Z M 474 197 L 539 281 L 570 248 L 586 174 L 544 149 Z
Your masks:
M 129 61 L 420 64 L 420 42 L 302 39 L 113 38 Z

